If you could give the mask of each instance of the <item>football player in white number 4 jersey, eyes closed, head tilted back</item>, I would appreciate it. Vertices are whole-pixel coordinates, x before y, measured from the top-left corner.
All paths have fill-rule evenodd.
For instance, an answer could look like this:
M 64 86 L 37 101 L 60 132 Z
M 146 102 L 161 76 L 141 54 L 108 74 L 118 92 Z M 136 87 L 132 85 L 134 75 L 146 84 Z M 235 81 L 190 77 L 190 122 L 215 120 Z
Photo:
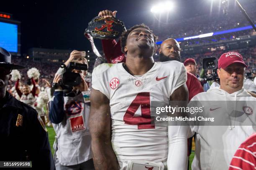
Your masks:
M 92 73 L 95 169 L 187 169 L 187 126 L 156 126 L 151 117 L 151 101 L 188 100 L 184 65 L 154 62 L 156 36 L 146 25 L 133 26 L 120 40 L 126 62 L 104 63 Z

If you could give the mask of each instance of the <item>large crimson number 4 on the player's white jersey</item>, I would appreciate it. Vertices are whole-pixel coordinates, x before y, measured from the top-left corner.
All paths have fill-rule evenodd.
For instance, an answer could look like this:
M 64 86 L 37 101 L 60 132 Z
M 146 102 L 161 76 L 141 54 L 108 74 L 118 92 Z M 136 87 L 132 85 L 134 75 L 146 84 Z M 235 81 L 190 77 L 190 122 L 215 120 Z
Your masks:
M 135 112 L 141 106 L 141 116 L 134 116 Z M 154 129 L 154 119 L 150 113 L 149 92 L 138 93 L 130 104 L 123 117 L 125 124 L 138 125 L 138 129 Z

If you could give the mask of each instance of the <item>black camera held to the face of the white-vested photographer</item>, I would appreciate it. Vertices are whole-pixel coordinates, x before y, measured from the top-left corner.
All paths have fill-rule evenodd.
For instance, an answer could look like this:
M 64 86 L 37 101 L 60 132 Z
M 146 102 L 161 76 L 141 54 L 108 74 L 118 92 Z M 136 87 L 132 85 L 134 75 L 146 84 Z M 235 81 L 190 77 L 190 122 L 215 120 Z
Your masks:
M 67 66 L 65 64 L 61 64 L 61 68 L 65 69 L 65 72 L 62 74 L 61 81 L 59 85 L 65 92 L 70 92 L 73 89 L 73 86 L 78 86 L 81 84 L 81 76 L 79 73 L 74 73 L 72 70 L 84 70 L 88 69 L 87 64 L 70 62 Z

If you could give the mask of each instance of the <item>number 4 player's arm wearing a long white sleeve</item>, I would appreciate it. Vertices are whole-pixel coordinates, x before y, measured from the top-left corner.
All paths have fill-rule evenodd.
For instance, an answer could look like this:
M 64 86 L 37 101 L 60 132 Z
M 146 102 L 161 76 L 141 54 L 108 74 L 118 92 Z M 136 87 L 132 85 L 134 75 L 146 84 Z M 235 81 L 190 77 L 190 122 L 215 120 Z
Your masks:
M 187 101 L 186 84 L 176 89 L 170 96 L 170 100 Z M 187 107 L 187 103 L 177 102 L 177 107 Z M 188 126 L 168 126 L 168 170 L 187 170 L 187 132 Z

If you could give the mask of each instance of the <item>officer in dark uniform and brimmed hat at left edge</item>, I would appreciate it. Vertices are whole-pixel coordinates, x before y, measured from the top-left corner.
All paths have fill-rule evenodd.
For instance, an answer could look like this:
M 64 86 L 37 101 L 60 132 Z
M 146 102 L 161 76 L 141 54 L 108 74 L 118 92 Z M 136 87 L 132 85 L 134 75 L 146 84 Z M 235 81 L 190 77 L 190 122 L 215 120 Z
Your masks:
M 11 64 L 0 47 L 0 161 L 31 161 L 33 170 L 54 170 L 47 129 L 35 109 L 6 91 L 10 72 L 25 67 Z

